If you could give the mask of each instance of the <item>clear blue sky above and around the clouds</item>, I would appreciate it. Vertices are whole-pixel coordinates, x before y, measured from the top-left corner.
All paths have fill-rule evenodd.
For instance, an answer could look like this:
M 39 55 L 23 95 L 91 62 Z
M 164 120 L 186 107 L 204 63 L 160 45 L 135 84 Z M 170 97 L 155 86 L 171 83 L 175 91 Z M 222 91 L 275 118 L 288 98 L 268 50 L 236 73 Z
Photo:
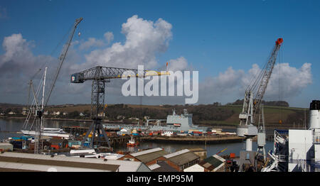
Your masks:
M 320 99 L 320 1 L 6 1 L 0 2 L 0 43 L 21 33 L 32 41 L 34 55 L 50 55 L 75 18 L 81 39 L 103 38 L 124 43 L 122 23 L 137 15 L 148 21 L 162 18 L 172 25 L 172 38 L 159 64 L 186 58 L 199 78 L 218 77 L 228 67 L 250 70 L 266 61 L 274 41 L 284 38 L 282 62 L 299 69 L 311 63 L 312 83 L 287 98 L 292 106 Z M 5 11 L 4 11 L 5 10 Z M 2 13 L 1 13 L 2 11 Z M 2 16 L 1 16 L 2 15 Z M 94 50 L 94 49 L 92 49 Z M 58 50 L 60 51 L 60 49 Z M 0 55 L 4 54 L 0 48 Z M 86 51 L 90 53 L 90 51 Z M 54 54 L 57 57 L 58 53 Z M 82 60 L 84 57 L 80 56 Z M 284 95 L 285 97 L 285 95 Z M 242 99 L 237 95 L 224 102 Z M 227 101 L 229 100 L 229 101 Z M 5 102 L 3 99 L 1 102 Z M 218 100 L 217 100 L 218 101 Z

